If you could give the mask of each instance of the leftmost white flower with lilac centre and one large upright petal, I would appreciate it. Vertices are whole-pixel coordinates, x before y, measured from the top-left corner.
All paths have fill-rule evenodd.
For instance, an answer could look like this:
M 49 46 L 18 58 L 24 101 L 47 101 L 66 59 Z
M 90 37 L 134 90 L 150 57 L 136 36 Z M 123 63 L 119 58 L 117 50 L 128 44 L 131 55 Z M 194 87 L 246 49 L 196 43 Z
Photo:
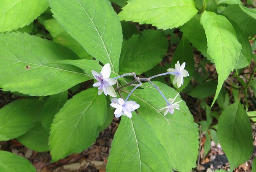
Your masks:
M 111 67 L 109 63 L 103 66 L 100 74 L 94 70 L 92 70 L 91 73 L 93 73 L 93 76 L 98 81 L 93 84 L 94 87 L 98 87 L 98 95 L 104 92 L 105 95 L 117 97 L 117 94 L 115 93 L 115 90 L 112 86 L 117 81 L 115 81 L 115 79 L 109 78 L 111 73 Z

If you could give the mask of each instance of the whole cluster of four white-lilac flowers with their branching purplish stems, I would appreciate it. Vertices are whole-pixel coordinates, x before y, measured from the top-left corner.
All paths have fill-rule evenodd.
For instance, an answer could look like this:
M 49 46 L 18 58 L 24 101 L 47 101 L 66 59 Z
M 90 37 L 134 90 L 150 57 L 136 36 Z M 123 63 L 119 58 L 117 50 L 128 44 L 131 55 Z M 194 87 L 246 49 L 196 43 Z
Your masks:
M 148 81 L 150 82 L 161 94 L 161 96 L 165 99 L 166 101 L 166 105 L 164 108 L 161 108 L 160 110 L 165 110 L 165 112 L 163 113 L 163 115 L 166 115 L 168 112 L 173 114 L 174 113 L 174 109 L 179 110 L 179 102 L 175 102 L 175 99 L 178 97 L 179 93 L 174 97 L 174 99 L 169 98 L 168 100 L 165 98 L 165 96 L 163 95 L 163 93 L 161 92 L 161 90 L 158 88 L 158 86 L 156 86 L 153 82 L 150 81 L 150 79 L 158 77 L 158 76 L 163 76 L 163 75 L 167 75 L 167 74 L 171 74 L 174 75 L 174 80 L 173 80 L 173 84 L 177 84 L 178 88 L 183 84 L 184 79 L 183 77 L 187 77 L 189 76 L 189 73 L 187 72 L 187 70 L 184 70 L 186 63 L 182 63 L 182 65 L 180 65 L 180 62 L 178 61 L 175 64 L 175 69 L 168 69 L 166 73 L 161 73 L 158 75 L 154 75 L 152 77 L 149 78 L 139 78 L 136 77 L 135 73 L 125 73 L 121 76 L 115 77 L 115 78 L 109 78 L 110 74 L 111 74 L 111 67 L 108 64 L 105 64 L 102 68 L 102 70 L 100 71 L 100 73 L 96 72 L 96 71 L 91 71 L 93 76 L 95 77 L 95 79 L 97 80 L 97 82 L 95 82 L 93 84 L 94 87 L 98 87 L 98 94 L 102 94 L 104 93 L 105 95 L 110 95 L 112 97 L 117 97 L 117 94 L 115 93 L 115 90 L 113 88 L 113 85 L 117 83 L 117 81 L 115 79 L 124 77 L 124 76 L 130 76 L 133 75 L 134 76 L 134 81 L 132 81 L 131 83 L 127 83 L 127 86 L 131 85 L 132 83 L 135 82 L 139 82 L 139 84 L 137 84 L 132 91 L 129 93 L 129 95 L 126 97 L 126 99 L 122 99 L 122 98 L 113 98 L 111 99 L 111 104 L 110 106 L 112 106 L 115 109 L 115 117 L 120 117 L 121 115 L 127 116 L 129 118 L 132 117 L 132 112 L 135 111 L 136 109 L 139 108 L 139 104 L 137 104 L 137 102 L 135 101 L 127 101 L 128 98 L 130 97 L 130 95 L 132 94 L 132 92 L 139 86 L 141 86 L 142 82 L 141 81 Z M 122 96 L 121 96 L 122 97 Z

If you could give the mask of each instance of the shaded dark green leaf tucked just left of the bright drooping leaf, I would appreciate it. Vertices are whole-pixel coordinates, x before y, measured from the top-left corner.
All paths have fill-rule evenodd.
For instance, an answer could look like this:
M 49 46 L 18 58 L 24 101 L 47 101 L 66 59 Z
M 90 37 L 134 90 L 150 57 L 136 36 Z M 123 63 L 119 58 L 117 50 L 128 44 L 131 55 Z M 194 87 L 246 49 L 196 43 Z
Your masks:
M 192 43 L 193 47 L 208 57 L 207 53 L 207 39 L 204 32 L 204 27 L 200 24 L 201 15 L 197 14 L 187 23 L 180 27 L 183 35 Z

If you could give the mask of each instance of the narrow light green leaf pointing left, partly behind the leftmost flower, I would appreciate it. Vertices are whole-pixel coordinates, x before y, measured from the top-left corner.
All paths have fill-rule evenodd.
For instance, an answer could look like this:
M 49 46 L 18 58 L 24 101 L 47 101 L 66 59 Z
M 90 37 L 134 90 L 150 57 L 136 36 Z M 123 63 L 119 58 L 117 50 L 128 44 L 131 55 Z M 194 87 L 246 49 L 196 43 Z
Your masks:
M 99 64 L 98 60 L 87 60 L 87 59 L 56 60 L 52 63 L 70 64 L 70 65 L 76 66 L 76 67 L 84 70 L 84 72 L 90 76 L 93 76 L 93 74 L 91 73 L 92 70 L 95 70 L 98 73 L 100 73 L 100 71 L 102 70 L 102 66 Z M 111 71 L 111 77 L 117 77 L 117 76 L 119 76 L 117 73 Z

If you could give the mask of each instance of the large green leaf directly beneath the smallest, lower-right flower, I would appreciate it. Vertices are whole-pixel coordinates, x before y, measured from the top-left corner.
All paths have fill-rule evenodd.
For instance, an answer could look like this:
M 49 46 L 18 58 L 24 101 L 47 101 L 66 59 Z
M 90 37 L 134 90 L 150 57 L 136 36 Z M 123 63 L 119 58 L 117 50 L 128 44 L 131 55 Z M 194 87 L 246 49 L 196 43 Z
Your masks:
M 160 87 L 165 97 L 174 98 L 177 92 L 161 82 L 154 82 Z M 189 112 L 184 101 L 180 102 L 180 110 L 174 110 L 174 114 L 163 116 L 160 108 L 166 106 L 163 97 L 158 90 L 149 83 L 143 83 L 140 90 L 135 90 L 131 100 L 136 101 L 141 115 L 153 128 L 161 144 L 167 151 L 169 163 L 174 170 L 187 172 L 196 166 L 198 154 L 198 126 L 194 123 L 193 116 Z M 180 96 L 176 101 L 180 101 Z M 180 163 L 183 162 L 183 163 Z M 186 166 L 184 165 L 186 164 Z

